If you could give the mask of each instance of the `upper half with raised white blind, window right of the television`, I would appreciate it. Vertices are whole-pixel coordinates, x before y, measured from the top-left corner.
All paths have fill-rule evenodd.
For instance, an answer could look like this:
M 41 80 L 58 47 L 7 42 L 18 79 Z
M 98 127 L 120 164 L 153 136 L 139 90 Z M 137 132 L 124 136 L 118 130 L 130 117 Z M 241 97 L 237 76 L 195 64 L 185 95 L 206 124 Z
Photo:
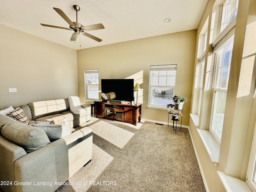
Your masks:
M 177 64 L 150 66 L 151 86 L 175 86 Z

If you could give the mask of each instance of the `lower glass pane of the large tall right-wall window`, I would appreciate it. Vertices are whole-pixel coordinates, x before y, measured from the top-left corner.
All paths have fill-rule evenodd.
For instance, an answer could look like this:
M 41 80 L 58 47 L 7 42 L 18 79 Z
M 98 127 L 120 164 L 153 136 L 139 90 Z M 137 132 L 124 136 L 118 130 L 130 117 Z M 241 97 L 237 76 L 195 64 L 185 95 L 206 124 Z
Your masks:
M 227 98 L 226 92 L 215 91 L 211 129 L 215 133 L 215 135 L 218 137 L 219 140 L 221 140 L 221 135 L 222 135 L 226 98 Z

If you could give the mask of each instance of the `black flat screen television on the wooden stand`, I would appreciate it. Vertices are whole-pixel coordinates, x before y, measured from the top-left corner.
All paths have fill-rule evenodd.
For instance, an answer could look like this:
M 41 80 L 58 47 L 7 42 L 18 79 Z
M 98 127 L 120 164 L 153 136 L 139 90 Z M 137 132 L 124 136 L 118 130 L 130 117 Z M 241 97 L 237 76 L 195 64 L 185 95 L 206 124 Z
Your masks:
M 134 79 L 102 79 L 101 92 L 114 92 L 118 101 L 134 100 Z

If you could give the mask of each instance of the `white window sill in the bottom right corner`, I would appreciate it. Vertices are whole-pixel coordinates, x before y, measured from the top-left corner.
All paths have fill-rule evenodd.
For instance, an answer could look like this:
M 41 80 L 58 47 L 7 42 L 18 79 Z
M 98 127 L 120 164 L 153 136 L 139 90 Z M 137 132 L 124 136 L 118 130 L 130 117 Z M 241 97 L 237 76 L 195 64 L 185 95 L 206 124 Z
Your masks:
M 220 171 L 217 172 L 227 192 L 252 192 L 252 190 L 245 181 L 242 181 L 238 178 L 230 177 Z

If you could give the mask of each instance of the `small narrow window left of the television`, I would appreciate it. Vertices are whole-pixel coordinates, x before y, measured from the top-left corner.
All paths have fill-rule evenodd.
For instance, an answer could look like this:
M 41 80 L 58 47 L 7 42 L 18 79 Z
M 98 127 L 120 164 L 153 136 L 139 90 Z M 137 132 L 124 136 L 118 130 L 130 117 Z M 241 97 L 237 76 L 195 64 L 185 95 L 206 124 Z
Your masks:
M 84 70 L 84 90 L 86 99 L 99 98 L 99 73 L 98 69 Z

